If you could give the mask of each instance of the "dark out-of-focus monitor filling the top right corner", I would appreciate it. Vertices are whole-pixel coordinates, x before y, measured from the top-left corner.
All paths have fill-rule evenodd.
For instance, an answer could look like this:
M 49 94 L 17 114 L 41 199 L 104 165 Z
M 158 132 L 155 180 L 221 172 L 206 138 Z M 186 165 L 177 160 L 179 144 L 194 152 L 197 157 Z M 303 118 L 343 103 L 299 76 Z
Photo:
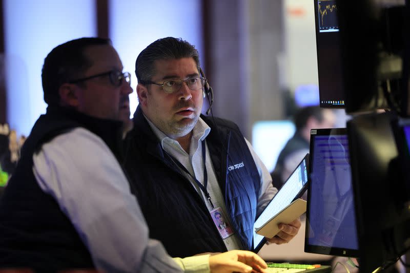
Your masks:
M 410 114 L 407 2 L 336 0 L 346 113 L 391 109 Z

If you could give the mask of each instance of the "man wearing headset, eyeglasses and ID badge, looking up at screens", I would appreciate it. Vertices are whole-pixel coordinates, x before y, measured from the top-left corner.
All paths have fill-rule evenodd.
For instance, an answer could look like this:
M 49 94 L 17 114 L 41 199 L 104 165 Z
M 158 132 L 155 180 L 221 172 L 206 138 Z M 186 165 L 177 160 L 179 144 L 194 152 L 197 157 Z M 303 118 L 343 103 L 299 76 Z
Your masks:
M 255 218 L 276 194 L 272 179 L 236 124 L 201 114 L 209 94 L 198 52 L 158 39 L 135 64 L 139 105 L 126 137 L 126 168 L 150 236 L 173 257 L 253 249 Z M 212 215 L 232 227 L 221 233 Z M 273 243 L 298 232 L 281 224 Z

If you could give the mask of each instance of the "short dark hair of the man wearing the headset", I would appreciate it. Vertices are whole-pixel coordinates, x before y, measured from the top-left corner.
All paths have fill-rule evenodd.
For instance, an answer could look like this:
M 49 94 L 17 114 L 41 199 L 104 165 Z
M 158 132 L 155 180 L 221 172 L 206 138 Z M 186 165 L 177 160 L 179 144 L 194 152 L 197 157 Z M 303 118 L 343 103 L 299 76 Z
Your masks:
M 135 75 L 139 83 L 150 81 L 155 75 L 154 61 L 192 57 L 199 72 L 199 54 L 195 46 L 181 38 L 166 37 L 154 41 L 139 53 L 135 61 Z

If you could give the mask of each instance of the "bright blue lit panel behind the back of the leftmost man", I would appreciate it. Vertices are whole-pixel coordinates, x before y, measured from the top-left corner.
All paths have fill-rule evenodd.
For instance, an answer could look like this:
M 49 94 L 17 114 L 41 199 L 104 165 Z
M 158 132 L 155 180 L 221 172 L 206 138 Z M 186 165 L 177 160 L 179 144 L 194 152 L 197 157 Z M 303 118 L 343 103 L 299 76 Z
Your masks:
M 96 35 L 95 1 L 4 0 L 3 5 L 8 121 L 27 136 L 47 107 L 44 58 L 65 41 Z

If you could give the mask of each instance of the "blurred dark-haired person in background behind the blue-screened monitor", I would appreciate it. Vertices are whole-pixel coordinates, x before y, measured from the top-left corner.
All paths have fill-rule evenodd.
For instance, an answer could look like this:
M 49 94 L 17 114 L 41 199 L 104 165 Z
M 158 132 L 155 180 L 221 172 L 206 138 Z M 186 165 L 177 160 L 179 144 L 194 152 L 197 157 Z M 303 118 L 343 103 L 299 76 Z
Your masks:
M 278 189 L 306 153 L 309 153 L 311 129 L 333 128 L 336 116 L 330 109 L 306 106 L 297 110 L 293 121 L 296 127 L 295 134 L 286 142 L 271 173 L 273 185 Z

